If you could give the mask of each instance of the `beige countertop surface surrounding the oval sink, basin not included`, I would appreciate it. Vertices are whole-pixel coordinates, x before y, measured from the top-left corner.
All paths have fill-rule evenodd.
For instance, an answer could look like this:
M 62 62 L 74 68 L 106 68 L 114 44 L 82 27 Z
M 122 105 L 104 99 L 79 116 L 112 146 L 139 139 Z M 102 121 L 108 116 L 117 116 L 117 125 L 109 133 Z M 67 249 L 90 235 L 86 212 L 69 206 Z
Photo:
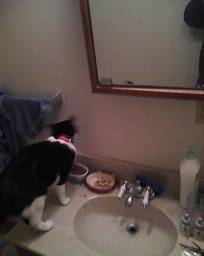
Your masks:
M 90 190 L 86 185 L 76 185 L 67 182 L 66 196 L 71 198 L 69 205 L 62 206 L 58 198 L 51 192 L 47 195 L 43 220 L 53 220 L 54 226 L 51 230 L 48 232 L 36 231 L 20 222 L 7 234 L 6 238 L 20 248 L 44 256 L 101 256 L 102 254 L 88 248 L 78 239 L 73 228 L 73 220 L 77 210 L 89 198 L 111 195 L 116 196 L 117 199 L 118 191 L 119 189 L 115 188 L 110 192 L 100 193 Z M 127 195 L 124 194 L 123 196 L 126 197 Z M 178 195 L 170 195 L 164 192 L 151 201 L 150 204 L 162 210 L 172 220 L 178 230 L 179 220 L 184 214 L 184 210 L 179 206 Z M 196 241 L 193 238 L 187 240 L 178 232 L 177 244 L 169 256 L 180 255 L 182 249 L 179 243 L 194 246 L 191 242 L 192 240 L 201 248 L 204 248 L 204 242 Z

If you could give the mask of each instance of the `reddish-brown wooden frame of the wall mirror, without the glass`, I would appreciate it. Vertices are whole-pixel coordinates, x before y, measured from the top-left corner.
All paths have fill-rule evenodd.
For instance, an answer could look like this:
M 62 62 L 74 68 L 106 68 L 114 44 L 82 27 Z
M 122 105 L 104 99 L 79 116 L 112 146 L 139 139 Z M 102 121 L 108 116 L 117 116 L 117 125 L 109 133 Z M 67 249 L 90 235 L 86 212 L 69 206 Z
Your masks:
M 153 86 L 121 86 L 121 85 L 102 85 L 98 80 L 96 55 L 94 49 L 94 38 L 90 17 L 88 0 L 79 0 L 88 59 L 88 68 L 92 93 L 117 94 L 129 96 L 143 96 L 154 98 L 173 98 L 183 100 L 204 100 L 204 90 L 185 89 L 185 88 L 157 88 Z

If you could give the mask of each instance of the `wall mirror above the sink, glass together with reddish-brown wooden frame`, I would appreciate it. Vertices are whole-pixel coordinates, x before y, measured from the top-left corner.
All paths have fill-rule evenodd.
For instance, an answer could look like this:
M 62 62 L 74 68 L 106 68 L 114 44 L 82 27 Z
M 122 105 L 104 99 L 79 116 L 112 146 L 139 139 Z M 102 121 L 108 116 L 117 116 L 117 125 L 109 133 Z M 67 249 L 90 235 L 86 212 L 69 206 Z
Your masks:
M 92 92 L 204 100 L 188 0 L 79 0 Z

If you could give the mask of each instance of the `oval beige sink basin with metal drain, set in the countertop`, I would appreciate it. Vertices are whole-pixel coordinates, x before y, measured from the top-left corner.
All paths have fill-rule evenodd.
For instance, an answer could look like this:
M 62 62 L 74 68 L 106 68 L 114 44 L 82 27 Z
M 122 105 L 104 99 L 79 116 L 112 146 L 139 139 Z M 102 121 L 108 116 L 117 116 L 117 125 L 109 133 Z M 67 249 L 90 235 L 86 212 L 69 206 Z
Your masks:
M 151 202 L 143 209 L 142 199 L 134 198 L 127 208 L 125 197 L 116 199 L 94 196 L 80 206 L 73 223 L 79 240 L 105 256 L 167 256 L 178 237 L 169 217 Z

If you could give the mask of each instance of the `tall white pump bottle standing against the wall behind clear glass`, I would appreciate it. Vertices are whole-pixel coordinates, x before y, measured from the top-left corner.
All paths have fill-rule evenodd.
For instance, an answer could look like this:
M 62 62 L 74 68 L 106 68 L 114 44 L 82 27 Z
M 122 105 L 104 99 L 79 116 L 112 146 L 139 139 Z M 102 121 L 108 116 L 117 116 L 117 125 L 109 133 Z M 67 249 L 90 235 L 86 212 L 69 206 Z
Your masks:
M 186 158 L 180 162 L 180 206 L 185 209 L 188 194 L 198 193 L 199 188 L 200 163 L 195 157 L 195 150 L 195 146 L 188 146 Z

